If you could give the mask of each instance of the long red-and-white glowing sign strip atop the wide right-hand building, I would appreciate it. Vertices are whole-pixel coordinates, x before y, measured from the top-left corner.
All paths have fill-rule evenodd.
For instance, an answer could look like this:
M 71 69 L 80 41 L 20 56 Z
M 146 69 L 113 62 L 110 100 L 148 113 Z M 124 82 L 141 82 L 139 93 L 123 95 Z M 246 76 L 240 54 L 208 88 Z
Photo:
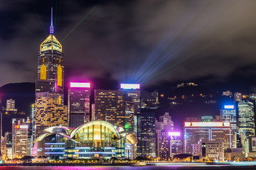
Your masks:
M 186 122 L 185 127 L 230 127 L 230 123 L 223 123 L 223 122 Z

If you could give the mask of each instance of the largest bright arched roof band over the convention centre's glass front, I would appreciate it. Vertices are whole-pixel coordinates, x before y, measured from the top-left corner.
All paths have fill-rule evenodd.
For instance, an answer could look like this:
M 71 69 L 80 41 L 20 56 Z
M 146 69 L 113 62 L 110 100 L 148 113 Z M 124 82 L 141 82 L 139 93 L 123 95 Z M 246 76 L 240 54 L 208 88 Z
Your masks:
M 104 125 L 106 128 L 109 128 L 114 133 L 114 136 L 116 136 L 118 139 L 120 138 L 119 133 L 117 132 L 117 129 L 114 128 L 114 125 L 112 125 L 111 123 L 105 122 L 103 120 L 95 120 L 90 123 L 85 123 L 83 125 L 80 125 L 80 127 L 76 128 L 75 130 L 73 130 L 73 132 L 71 132 L 70 137 L 73 138 L 77 132 L 91 125 Z

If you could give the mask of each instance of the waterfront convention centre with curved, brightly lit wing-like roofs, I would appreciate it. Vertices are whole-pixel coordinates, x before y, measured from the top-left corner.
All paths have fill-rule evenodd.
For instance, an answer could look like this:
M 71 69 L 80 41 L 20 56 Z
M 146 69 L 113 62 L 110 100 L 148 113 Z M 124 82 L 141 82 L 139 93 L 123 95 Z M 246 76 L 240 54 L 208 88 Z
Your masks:
M 60 157 L 73 159 L 102 158 L 134 159 L 137 153 L 137 137 L 115 128 L 111 123 L 95 120 L 78 128 L 54 126 L 33 142 L 36 157 Z

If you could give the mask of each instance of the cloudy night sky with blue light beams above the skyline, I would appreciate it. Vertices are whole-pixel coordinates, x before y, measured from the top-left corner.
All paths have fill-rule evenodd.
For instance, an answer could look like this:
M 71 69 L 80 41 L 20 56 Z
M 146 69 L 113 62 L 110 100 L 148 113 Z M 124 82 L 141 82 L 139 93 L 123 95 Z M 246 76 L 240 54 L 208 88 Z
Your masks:
M 53 6 L 68 80 L 166 89 L 197 81 L 223 90 L 256 91 L 255 0 L 0 4 L 0 86 L 35 81 L 37 52 L 49 34 Z

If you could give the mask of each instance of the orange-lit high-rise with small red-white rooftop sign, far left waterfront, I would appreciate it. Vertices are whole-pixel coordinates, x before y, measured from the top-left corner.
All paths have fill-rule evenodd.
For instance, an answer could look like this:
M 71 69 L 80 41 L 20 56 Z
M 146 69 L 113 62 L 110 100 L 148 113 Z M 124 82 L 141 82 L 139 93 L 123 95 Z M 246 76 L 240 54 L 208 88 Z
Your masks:
M 28 155 L 28 125 L 23 118 L 12 119 L 12 152 L 14 158 Z

